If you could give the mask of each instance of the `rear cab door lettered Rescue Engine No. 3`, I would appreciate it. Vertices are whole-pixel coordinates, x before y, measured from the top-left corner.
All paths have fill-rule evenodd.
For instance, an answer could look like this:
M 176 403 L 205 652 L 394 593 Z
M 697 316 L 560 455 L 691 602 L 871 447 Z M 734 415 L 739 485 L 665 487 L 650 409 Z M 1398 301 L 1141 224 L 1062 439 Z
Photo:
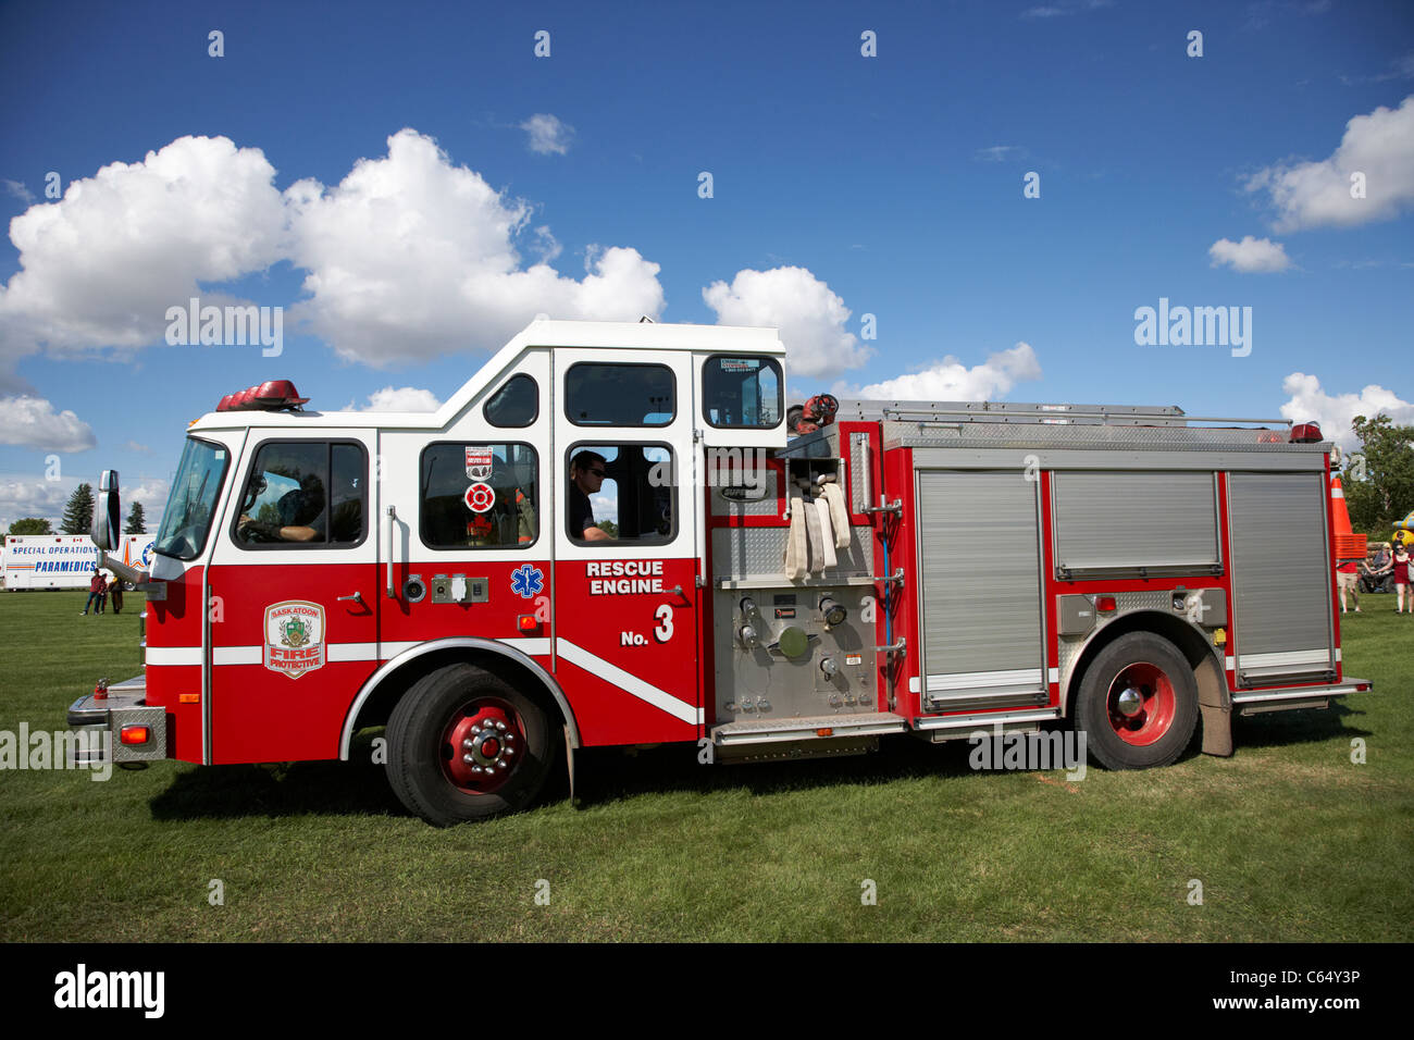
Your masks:
M 554 352 L 554 668 L 585 744 L 700 734 L 691 388 L 687 354 Z

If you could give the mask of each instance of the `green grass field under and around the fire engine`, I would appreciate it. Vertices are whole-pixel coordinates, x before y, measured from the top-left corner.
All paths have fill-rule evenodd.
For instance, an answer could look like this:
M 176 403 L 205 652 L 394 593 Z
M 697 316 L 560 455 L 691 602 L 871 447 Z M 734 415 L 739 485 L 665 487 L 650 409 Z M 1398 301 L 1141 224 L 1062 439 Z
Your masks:
M 141 597 L 86 618 L 83 599 L 0 593 L 0 730 L 64 729 L 95 678 L 140 671 Z M 1239 720 L 1233 758 L 1195 746 L 1079 782 L 905 737 L 782 765 L 598 751 L 578 808 L 561 781 L 438 831 L 397 805 L 368 736 L 355 761 L 283 775 L 0 771 L 0 940 L 1408 941 L 1414 617 L 1362 606 L 1345 661 L 1374 692 Z

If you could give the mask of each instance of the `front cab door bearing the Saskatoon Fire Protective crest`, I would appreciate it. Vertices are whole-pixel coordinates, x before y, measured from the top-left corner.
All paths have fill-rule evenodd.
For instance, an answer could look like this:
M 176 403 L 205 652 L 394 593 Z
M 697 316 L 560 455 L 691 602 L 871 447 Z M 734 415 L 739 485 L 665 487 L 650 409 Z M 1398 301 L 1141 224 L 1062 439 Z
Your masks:
M 337 758 L 378 668 L 370 434 L 250 437 L 209 576 L 214 763 Z

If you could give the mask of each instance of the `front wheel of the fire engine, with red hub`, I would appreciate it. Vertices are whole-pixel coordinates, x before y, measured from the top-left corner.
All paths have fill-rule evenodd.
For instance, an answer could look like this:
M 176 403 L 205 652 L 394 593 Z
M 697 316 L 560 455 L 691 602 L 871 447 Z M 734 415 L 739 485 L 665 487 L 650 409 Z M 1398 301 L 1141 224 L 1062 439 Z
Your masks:
M 469 664 L 419 679 L 387 720 L 387 780 L 411 812 L 451 826 L 523 809 L 550 771 L 544 710 Z

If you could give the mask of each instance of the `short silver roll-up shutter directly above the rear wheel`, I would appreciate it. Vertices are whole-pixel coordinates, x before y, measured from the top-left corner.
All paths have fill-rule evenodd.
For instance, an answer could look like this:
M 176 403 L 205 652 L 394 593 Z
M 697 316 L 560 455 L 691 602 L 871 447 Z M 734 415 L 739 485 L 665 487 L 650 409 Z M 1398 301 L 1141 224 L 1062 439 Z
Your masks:
M 1052 487 L 1058 567 L 1210 570 L 1220 559 L 1210 471 L 1056 473 Z

